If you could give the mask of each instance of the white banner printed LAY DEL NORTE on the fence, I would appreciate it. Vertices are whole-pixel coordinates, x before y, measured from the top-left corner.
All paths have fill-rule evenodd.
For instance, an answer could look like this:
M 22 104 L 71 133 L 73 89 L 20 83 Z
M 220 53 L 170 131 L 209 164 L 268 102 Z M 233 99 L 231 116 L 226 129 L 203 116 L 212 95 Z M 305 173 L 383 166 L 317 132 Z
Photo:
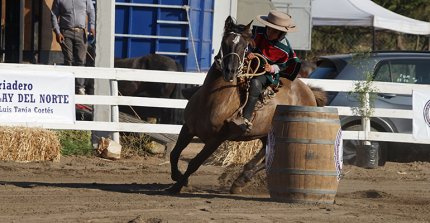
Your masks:
M 73 123 L 72 73 L 0 70 L 0 122 Z

